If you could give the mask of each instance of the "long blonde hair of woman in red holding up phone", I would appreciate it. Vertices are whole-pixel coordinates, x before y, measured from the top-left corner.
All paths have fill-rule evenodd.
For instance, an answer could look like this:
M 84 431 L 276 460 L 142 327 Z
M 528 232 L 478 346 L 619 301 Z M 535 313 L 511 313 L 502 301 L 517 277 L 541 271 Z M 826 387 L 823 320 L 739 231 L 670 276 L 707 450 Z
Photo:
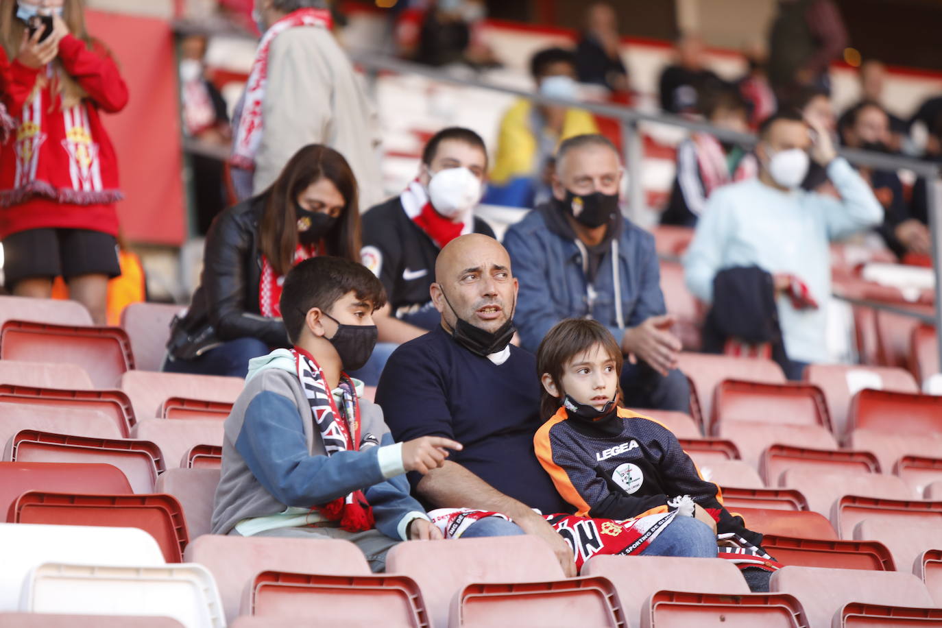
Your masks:
M 89 34 L 85 30 L 85 1 L 84 0 L 65 0 L 63 3 L 62 19 L 69 26 L 73 37 L 85 41 L 85 45 L 91 47 Z M 23 42 L 23 32 L 26 30 L 26 24 L 16 18 L 16 0 L 0 0 L 0 45 L 3 45 L 7 58 L 12 61 L 20 54 L 20 44 Z M 54 94 L 62 94 L 62 106 L 69 107 L 77 105 L 79 101 L 88 96 L 85 89 L 69 75 L 62 67 L 61 62 L 56 59 L 53 66 L 57 72 L 53 73 Z M 37 78 L 36 87 L 30 98 L 36 97 L 36 91 L 46 85 L 46 75 L 40 73 Z M 50 109 L 54 108 L 56 103 L 50 103 Z

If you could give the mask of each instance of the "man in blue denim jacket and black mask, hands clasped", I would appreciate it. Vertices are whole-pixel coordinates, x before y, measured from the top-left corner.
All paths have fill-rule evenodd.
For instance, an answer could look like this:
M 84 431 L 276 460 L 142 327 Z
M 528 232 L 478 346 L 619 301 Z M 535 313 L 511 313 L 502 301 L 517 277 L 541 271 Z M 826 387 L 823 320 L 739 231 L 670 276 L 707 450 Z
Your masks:
M 660 292 L 654 237 L 619 211 L 621 179 L 607 138 L 571 137 L 557 152 L 552 201 L 504 236 L 520 281 L 514 319 L 521 346 L 536 351 L 563 318 L 593 318 L 629 357 L 626 406 L 688 411 L 690 387 L 677 370 L 681 345 Z

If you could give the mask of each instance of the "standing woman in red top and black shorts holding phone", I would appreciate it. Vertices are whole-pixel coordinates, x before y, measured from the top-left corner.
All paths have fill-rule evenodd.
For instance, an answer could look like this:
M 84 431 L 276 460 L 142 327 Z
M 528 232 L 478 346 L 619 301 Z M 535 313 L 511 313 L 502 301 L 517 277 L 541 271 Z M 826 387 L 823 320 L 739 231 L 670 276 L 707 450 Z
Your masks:
M 107 280 L 121 274 L 122 193 L 99 110 L 121 111 L 127 87 L 105 46 L 89 39 L 83 0 L 0 0 L 0 44 L 6 285 L 47 298 L 61 275 L 105 324 Z

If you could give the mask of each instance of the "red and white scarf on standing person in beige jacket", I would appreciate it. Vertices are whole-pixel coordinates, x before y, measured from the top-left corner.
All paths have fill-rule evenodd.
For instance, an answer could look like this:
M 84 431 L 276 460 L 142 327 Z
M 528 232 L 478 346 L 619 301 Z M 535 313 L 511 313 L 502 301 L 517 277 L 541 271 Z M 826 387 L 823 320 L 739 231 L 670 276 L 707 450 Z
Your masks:
M 258 42 L 258 51 L 249 72 L 249 82 L 245 86 L 245 105 L 242 117 L 235 130 L 232 164 L 241 169 L 255 168 L 255 153 L 262 138 L 262 103 L 265 101 L 265 89 L 268 85 L 268 48 L 271 41 L 288 28 L 297 26 L 333 26 L 331 12 L 325 8 L 299 8 L 271 24 L 262 40 Z

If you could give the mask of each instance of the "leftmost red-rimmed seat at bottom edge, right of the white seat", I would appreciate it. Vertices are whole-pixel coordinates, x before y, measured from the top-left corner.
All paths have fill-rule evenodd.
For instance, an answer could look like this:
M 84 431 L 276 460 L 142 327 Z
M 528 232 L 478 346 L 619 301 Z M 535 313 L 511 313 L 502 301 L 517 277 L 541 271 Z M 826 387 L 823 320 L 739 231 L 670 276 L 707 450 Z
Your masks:
M 355 611 L 353 609 L 356 609 Z M 422 593 L 403 575 L 320 575 L 261 572 L 252 580 L 243 614 L 317 618 L 343 625 L 351 616 L 363 625 L 429 625 Z

